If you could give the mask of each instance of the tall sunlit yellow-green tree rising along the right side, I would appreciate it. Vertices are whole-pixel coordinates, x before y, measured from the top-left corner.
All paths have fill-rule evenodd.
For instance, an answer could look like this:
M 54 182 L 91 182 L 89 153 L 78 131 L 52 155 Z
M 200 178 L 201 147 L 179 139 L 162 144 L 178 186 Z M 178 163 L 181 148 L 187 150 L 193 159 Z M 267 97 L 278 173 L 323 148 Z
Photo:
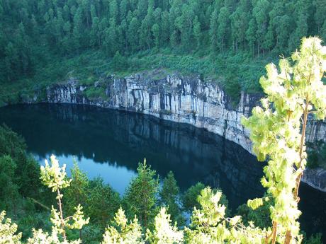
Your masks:
M 300 51 L 291 59 L 281 59 L 279 69 L 266 66 L 267 75 L 260 79 L 266 98 L 262 108 L 252 110 L 252 116 L 242 124 L 250 131 L 253 151 L 264 167 L 262 185 L 274 198 L 271 205 L 273 228 L 266 243 L 300 242 L 298 190 L 305 170 L 305 130 L 308 115 L 317 120 L 326 115 L 326 86 L 322 83 L 326 71 L 326 47 L 317 37 L 303 38 Z M 252 207 L 262 199 L 251 202 Z

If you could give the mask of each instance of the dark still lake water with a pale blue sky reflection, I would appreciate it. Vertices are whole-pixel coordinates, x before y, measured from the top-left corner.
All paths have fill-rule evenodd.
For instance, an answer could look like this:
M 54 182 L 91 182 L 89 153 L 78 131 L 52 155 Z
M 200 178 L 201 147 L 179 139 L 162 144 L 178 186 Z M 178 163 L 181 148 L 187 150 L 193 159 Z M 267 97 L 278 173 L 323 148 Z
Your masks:
M 54 153 L 72 167 L 73 157 L 89 178 L 101 176 L 120 194 L 144 158 L 164 178 L 174 172 L 181 190 L 201 181 L 220 187 L 230 207 L 262 196 L 262 163 L 237 144 L 204 129 L 146 115 L 82 105 L 12 105 L 0 123 L 23 135 L 28 151 L 44 162 Z M 300 222 L 326 236 L 326 194 L 300 187 Z

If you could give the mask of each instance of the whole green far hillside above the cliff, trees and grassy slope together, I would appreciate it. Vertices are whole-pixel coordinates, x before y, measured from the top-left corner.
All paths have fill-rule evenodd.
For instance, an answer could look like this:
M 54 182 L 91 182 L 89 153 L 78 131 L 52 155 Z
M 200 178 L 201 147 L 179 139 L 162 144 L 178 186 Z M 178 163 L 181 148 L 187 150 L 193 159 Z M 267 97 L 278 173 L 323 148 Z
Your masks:
M 325 11 L 323 0 L 1 0 L 1 100 L 145 69 L 212 76 L 237 98 L 261 91 L 264 64 L 301 37 L 325 40 Z

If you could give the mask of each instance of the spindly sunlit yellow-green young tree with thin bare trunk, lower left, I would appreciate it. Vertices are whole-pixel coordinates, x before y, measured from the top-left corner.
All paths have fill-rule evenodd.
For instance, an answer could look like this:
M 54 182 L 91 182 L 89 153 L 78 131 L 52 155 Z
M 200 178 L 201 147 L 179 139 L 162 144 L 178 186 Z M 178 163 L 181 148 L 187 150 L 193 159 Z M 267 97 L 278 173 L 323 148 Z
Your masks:
M 60 243 L 60 238 L 57 234 L 60 234 L 63 238 L 63 243 L 67 243 L 66 228 L 70 229 L 81 229 L 85 224 L 89 223 L 89 218 L 85 219 L 82 211 L 82 207 L 79 204 L 75 207 L 75 213 L 72 216 L 64 218 L 62 210 L 62 197 L 60 190 L 69 187 L 72 180 L 67 179 L 65 172 L 66 165 L 60 167 L 59 161 L 54 155 L 50 157 L 51 165 L 45 160 L 45 166 L 41 166 L 40 179 L 43 184 L 51 188 L 52 192 L 57 192 L 57 204 L 59 211 L 52 206 L 51 210 L 51 222 L 52 235 L 43 233 L 43 231 L 33 230 L 34 236 L 29 240 L 29 243 Z M 73 243 L 80 243 L 80 240 L 74 241 Z

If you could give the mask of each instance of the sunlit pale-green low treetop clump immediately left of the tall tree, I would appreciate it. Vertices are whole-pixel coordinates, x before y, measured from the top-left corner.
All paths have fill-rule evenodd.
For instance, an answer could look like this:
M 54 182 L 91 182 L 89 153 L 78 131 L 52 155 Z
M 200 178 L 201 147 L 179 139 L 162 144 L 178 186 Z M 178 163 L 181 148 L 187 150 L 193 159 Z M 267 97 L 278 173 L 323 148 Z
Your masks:
M 193 209 L 191 226 L 186 228 L 186 243 L 263 243 L 266 229 L 256 228 L 253 223 L 245 226 L 241 216 L 227 218 L 221 197 L 222 192 L 214 192 L 210 187 L 201 191 L 198 197 L 201 208 Z

